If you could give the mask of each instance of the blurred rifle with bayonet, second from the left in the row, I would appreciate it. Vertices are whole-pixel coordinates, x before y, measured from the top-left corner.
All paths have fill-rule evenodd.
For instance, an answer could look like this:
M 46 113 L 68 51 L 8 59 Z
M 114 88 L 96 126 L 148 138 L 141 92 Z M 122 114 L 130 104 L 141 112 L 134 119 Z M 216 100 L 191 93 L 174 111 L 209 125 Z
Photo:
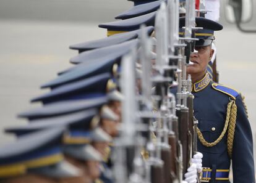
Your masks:
M 164 163 L 161 160 L 161 143 L 153 142 L 153 118 L 158 118 L 157 113 L 153 113 L 153 101 L 152 101 L 152 81 L 151 81 L 151 63 L 150 63 L 150 54 L 151 54 L 151 44 L 152 41 L 148 38 L 147 33 L 143 30 L 141 35 L 141 52 L 140 52 L 140 61 L 142 63 L 142 120 L 144 124 L 148 124 L 148 139 L 146 149 L 149 153 L 149 157 L 146 160 L 146 180 L 148 182 L 156 183 L 165 183 L 166 177 L 164 177 Z

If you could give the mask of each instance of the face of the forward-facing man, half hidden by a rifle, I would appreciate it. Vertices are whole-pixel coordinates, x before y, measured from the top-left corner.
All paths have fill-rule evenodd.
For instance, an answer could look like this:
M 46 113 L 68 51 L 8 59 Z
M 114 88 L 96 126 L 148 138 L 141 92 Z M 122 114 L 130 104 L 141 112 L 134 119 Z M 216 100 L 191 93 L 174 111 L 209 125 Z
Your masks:
M 208 62 L 210 62 L 214 52 L 211 46 L 195 47 L 195 50 L 198 51 L 198 53 L 192 53 L 190 55 L 190 61 L 193 64 L 187 67 L 188 75 L 200 75 L 205 73 Z

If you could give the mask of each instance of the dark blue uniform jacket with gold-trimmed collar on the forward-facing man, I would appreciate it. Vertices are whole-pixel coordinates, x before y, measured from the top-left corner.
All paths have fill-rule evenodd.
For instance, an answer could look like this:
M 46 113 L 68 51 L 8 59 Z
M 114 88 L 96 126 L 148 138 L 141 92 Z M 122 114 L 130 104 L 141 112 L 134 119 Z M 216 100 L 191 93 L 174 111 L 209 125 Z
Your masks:
M 176 87 L 171 88 L 176 94 Z M 237 105 L 236 128 L 233 144 L 233 180 L 234 183 L 255 182 L 252 131 L 245 112 L 241 95 L 221 84 L 213 83 L 208 73 L 193 84 L 194 116 L 198 120 L 198 128 L 207 142 L 214 142 L 223 131 L 226 120 L 227 105 L 234 99 Z M 197 142 L 198 152 L 203 153 L 203 167 L 213 169 L 210 182 L 216 181 L 216 169 L 229 169 L 231 158 L 227 151 L 227 132 L 223 139 L 213 147 L 205 147 Z

